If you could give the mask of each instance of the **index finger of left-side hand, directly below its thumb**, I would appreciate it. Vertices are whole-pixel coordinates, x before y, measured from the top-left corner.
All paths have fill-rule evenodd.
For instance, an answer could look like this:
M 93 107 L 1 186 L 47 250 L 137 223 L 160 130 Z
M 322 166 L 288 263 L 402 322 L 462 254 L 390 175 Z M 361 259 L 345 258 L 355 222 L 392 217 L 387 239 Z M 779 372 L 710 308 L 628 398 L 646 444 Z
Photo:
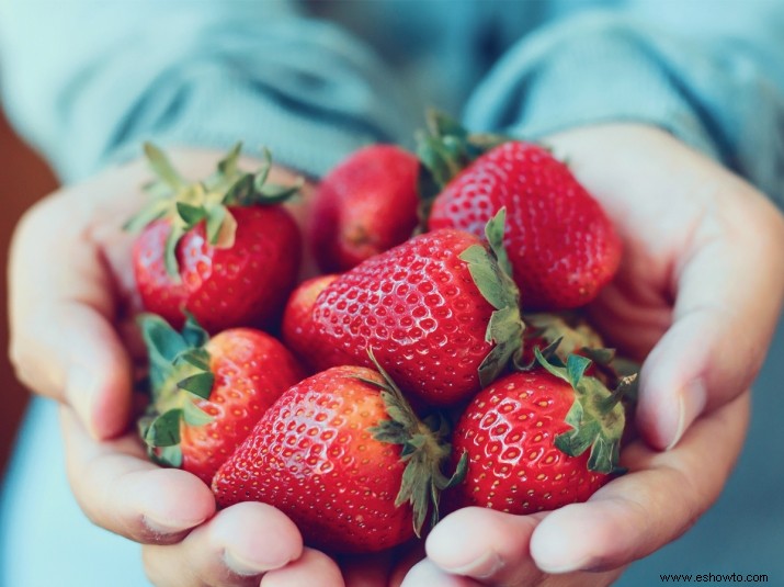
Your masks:
M 60 422 L 73 495 L 96 526 L 141 543 L 171 543 L 215 511 L 209 488 L 196 476 L 149 462 L 130 434 L 99 442 L 71 408 Z

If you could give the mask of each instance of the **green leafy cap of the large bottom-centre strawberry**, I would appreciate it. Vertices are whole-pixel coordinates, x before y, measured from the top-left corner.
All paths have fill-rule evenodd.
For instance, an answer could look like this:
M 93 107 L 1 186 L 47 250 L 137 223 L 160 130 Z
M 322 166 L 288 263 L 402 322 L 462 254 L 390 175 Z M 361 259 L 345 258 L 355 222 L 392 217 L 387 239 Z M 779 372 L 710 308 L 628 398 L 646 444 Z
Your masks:
M 430 524 L 439 521 L 441 492 L 454 487 L 463 481 L 468 466 L 467 454 L 463 454 L 455 472 L 447 477 L 442 467 L 452 454 L 452 445 L 446 440 L 450 427 L 441 415 L 421 420 L 413 411 L 400 388 L 389 374 L 378 364 L 373 351 L 367 354 L 373 361 L 384 383 L 362 379 L 363 382 L 379 387 L 382 399 L 389 416 L 378 426 L 370 429 L 373 438 L 380 442 L 400 444 L 400 459 L 406 463 L 400 490 L 395 506 L 410 504 L 413 509 L 413 531 L 421 535 L 422 527 L 430 512 Z

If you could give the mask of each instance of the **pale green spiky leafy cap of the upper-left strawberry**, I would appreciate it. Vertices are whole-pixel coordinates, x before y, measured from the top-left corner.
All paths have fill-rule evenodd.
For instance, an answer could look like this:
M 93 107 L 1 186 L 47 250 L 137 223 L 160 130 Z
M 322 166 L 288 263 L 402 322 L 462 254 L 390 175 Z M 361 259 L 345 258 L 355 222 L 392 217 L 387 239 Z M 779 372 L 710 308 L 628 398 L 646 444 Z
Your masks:
M 177 245 L 190 229 L 204 222 L 207 239 L 217 248 L 231 248 L 237 232 L 237 221 L 228 206 L 273 205 L 285 202 L 302 188 L 268 183 L 272 167 L 269 149 L 262 149 L 262 162 L 251 173 L 239 169 L 242 144 L 237 143 L 218 161 L 216 171 L 203 181 L 188 181 L 172 166 L 166 154 L 151 143 L 144 146 L 147 161 L 157 179 L 145 187 L 151 202 L 133 216 L 124 228 L 140 232 L 150 223 L 167 218 L 171 230 L 166 241 L 166 269 L 179 279 Z

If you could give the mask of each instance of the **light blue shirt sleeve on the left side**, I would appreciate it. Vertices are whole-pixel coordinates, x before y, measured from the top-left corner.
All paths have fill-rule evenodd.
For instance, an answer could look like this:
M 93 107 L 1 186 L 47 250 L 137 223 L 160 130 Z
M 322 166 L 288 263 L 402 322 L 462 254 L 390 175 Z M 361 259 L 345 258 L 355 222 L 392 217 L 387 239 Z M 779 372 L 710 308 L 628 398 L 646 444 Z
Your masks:
M 0 56 L 10 118 L 65 180 L 145 139 L 318 176 L 412 132 L 374 53 L 284 1 L 0 0 Z

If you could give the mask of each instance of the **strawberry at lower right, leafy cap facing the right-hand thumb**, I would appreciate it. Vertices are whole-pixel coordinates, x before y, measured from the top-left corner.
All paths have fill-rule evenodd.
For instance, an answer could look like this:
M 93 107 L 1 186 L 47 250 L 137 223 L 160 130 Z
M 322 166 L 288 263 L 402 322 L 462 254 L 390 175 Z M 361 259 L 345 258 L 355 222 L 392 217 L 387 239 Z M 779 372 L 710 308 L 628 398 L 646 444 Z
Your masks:
M 467 454 L 465 482 L 451 507 L 480 506 L 516 515 L 587 500 L 617 467 L 624 429 L 622 394 L 584 374 L 590 360 L 569 355 L 499 379 L 461 416 L 454 454 Z

